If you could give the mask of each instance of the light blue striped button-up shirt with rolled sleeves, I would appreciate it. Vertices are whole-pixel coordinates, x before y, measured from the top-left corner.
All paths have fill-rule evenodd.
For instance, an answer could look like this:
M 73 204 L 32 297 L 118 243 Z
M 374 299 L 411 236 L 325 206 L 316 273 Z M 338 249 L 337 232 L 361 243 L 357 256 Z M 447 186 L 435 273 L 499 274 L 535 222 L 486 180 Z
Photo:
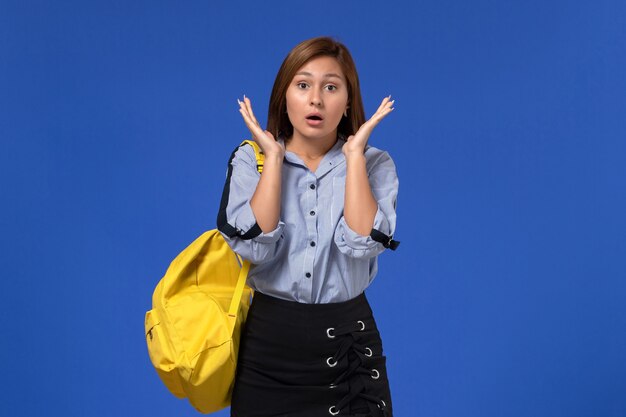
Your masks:
M 350 229 L 343 217 L 344 143 L 337 140 L 315 172 L 295 153 L 285 152 L 280 220 L 269 233 L 258 229 L 250 206 L 260 178 L 254 150 L 240 146 L 233 154 L 220 211 L 237 234 L 222 235 L 252 263 L 247 283 L 255 291 L 301 303 L 334 303 L 358 296 L 376 276 L 377 256 L 385 246 Z M 373 229 L 391 236 L 398 195 L 395 164 L 373 146 L 366 148 L 365 157 L 378 202 Z M 242 239 L 253 227 L 259 230 L 256 237 Z

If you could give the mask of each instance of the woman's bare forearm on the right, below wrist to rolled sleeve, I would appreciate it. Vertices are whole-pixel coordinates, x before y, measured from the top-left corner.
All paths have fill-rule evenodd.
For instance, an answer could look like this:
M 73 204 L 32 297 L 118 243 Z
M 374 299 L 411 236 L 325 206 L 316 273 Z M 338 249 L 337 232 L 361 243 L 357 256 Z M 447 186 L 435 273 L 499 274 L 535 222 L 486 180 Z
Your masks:
M 367 176 L 365 155 L 362 152 L 346 154 L 343 215 L 348 227 L 362 236 L 369 236 L 377 209 L 378 204 Z

